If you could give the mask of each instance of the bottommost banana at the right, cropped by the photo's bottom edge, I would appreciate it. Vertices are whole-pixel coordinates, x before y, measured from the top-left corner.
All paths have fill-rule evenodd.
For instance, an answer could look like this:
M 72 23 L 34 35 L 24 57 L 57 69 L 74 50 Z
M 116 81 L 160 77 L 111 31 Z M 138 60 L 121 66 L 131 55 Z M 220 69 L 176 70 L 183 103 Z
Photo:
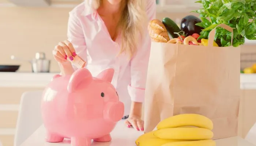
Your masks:
M 169 142 L 162 146 L 216 146 L 216 142 L 208 139 L 201 141 L 182 141 L 182 142 Z

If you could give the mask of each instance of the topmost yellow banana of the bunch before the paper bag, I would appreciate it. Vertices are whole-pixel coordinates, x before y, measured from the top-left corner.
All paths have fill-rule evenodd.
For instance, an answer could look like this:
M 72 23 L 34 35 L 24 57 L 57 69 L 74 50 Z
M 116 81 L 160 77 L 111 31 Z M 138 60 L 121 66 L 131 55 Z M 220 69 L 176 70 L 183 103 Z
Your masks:
M 181 114 L 171 116 L 159 122 L 157 129 L 176 128 L 181 126 L 195 126 L 207 128 L 209 130 L 213 129 L 212 121 L 209 118 L 198 114 Z

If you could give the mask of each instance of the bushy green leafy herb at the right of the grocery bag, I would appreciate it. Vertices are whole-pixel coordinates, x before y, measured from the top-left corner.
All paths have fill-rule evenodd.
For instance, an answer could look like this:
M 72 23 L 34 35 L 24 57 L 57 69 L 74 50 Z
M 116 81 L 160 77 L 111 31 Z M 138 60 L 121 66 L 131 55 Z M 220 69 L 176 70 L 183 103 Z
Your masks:
M 202 22 L 197 26 L 204 29 L 199 39 L 208 39 L 209 32 L 218 24 L 227 24 L 233 28 L 233 46 L 243 45 L 245 38 L 256 40 L 256 0 L 199 0 L 202 9 L 200 14 Z M 224 28 L 216 28 L 214 41 L 222 47 L 231 46 L 231 32 Z

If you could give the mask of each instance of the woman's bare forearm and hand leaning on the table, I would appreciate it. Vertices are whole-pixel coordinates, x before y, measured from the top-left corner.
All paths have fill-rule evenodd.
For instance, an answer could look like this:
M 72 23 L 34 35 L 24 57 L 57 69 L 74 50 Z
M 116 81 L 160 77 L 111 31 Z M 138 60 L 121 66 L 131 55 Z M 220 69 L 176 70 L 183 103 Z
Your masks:
M 125 124 L 128 128 L 131 126 L 138 131 L 144 131 L 144 121 L 141 119 L 142 115 L 142 103 L 132 101 L 131 112 L 128 119 L 125 120 Z

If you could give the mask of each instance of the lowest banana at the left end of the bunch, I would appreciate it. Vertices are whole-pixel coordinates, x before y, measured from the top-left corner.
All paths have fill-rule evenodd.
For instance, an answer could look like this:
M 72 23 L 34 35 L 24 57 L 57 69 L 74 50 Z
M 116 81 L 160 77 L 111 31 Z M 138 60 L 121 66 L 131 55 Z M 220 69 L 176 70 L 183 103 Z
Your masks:
M 162 146 L 163 144 L 169 142 L 181 142 L 181 140 L 146 138 L 139 141 L 137 146 Z

